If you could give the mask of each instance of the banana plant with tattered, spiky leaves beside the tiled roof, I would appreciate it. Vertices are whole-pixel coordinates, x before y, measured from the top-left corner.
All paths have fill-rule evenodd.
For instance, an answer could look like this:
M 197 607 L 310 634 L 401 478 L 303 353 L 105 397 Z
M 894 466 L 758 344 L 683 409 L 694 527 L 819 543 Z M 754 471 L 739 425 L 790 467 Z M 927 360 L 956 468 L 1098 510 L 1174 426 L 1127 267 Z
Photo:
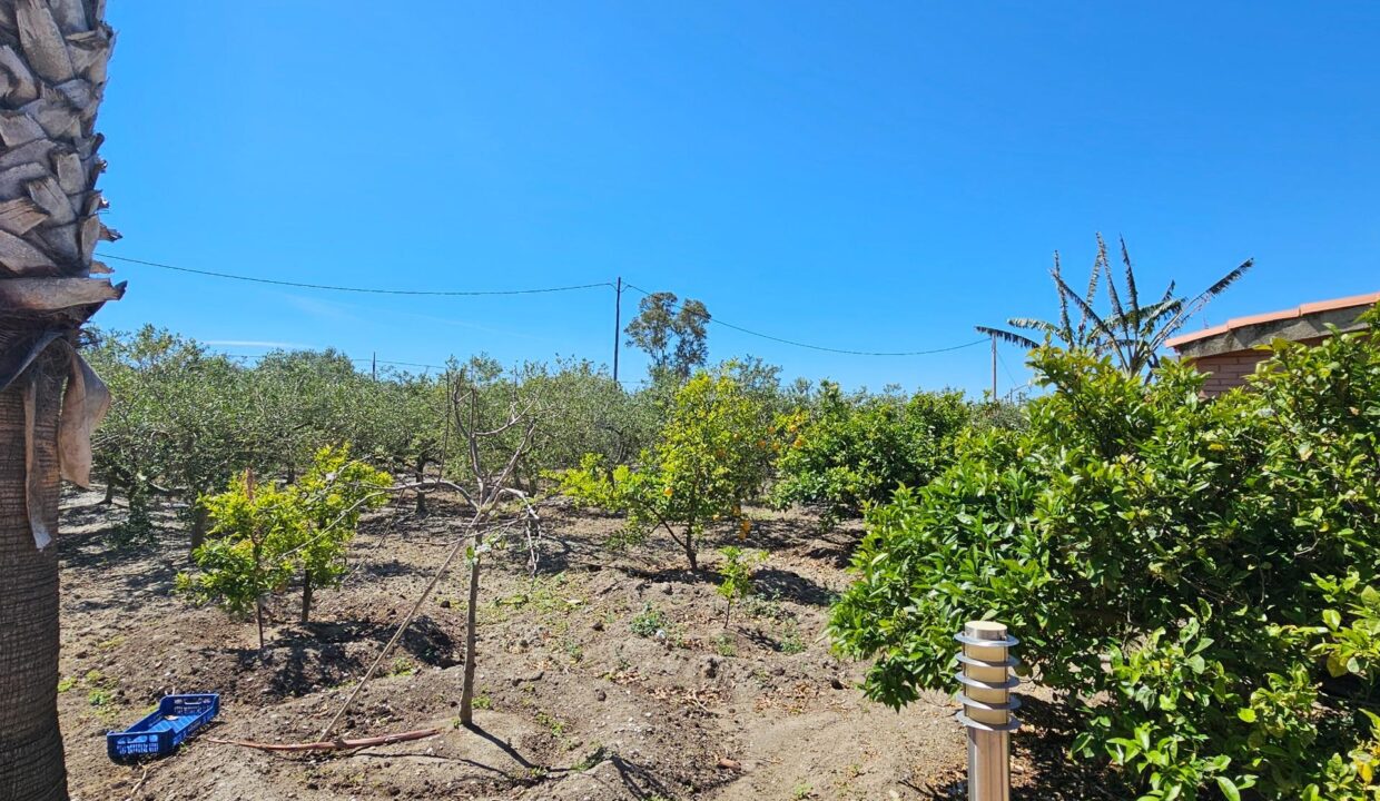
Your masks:
M 1097 258 L 1093 259 L 1093 274 L 1087 280 L 1087 291 L 1079 294 L 1064 281 L 1056 251 L 1050 276 L 1054 278 L 1054 288 L 1058 292 L 1058 323 L 1031 317 L 1013 317 L 1006 323 L 1013 328 L 1036 331 L 1068 349 L 1092 350 L 1098 356 L 1110 354 L 1123 371 L 1138 374 L 1154 369 L 1159 364 L 1158 352 L 1165 346 L 1165 342 L 1213 298 L 1246 274 L 1254 263 L 1253 259 L 1246 259 L 1192 298 L 1176 296 L 1174 283 L 1170 281 L 1159 301 L 1141 306 L 1140 292 L 1136 290 L 1136 272 L 1132 269 L 1130 254 L 1126 251 L 1126 240 L 1121 240 L 1121 256 L 1126 287 L 1118 291 L 1116 278 L 1112 277 L 1111 259 L 1107 256 L 1107 243 L 1103 240 L 1103 234 L 1097 234 Z M 1108 310 L 1105 314 L 1098 314 L 1093 309 L 1093 303 L 1097 299 L 1098 284 L 1104 277 L 1107 280 Z M 1078 310 L 1076 327 L 1070 316 L 1070 306 Z M 977 331 L 1023 347 L 1034 349 L 1041 345 L 1029 336 L 1005 328 L 977 325 Z

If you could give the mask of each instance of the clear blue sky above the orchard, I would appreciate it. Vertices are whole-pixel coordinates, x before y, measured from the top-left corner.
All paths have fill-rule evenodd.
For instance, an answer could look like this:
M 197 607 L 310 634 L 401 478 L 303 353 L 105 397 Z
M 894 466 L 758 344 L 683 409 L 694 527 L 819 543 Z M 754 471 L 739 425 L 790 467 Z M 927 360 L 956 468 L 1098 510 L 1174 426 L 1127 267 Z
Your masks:
M 613 281 L 857 350 L 1050 316 L 1125 236 L 1206 321 L 1380 290 L 1370 3 L 110 3 L 105 252 L 413 290 Z M 110 262 L 95 323 L 218 349 L 607 361 L 607 288 L 399 298 Z M 625 295 L 624 320 L 636 310 Z M 1195 323 L 1201 325 L 1202 321 Z M 818 353 L 847 386 L 989 383 L 985 346 Z M 1000 386 L 1024 383 L 1003 349 Z M 644 360 L 625 350 L 624 375 Z

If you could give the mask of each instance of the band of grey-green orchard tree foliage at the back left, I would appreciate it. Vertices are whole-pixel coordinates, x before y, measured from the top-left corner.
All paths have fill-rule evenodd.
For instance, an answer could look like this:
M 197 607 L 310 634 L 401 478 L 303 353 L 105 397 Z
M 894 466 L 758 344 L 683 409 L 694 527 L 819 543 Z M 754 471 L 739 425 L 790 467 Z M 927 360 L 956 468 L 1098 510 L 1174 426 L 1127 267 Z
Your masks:
M 627 393 L 606 369 L 571 360 L 505 371 L 479 356 L 451 361 L 439 375 L 385 368 L 377 378 L 334 350 L 273 352 L 241 364 L 152 327 L 98 331 L 87 357 L 115 397 L 92 452 L 97 477 L 130 500 L 117 545 L 146 536 L 149 509 L 164 498 L 181 502 L 196 540 L 204 524 L 199 496 L 244 470 L 295 483 L 317 449 L 341 441 L 414 481 L 433 476 L 442 462 L 448 478 L 468 480 L 469 455 L 457 447 L 453 420 L 457 386 L 479 392 L 480 427 L 501 425 L 516 396 L 540 397 L 542 412 L 562 420 L 541 426 L 519 462 L 516 477 L 534 492 L 542 472 L 573 467 L 584 454 L 610 463 L 636 456 L 653 441 L 678 387 L 668 379 Z M 770 368 L 753 372 L 753 389 L 774 393 L 769 378 Z M 486 440 L 484 463 L 506 458 L 518 436 L 512 430 Z

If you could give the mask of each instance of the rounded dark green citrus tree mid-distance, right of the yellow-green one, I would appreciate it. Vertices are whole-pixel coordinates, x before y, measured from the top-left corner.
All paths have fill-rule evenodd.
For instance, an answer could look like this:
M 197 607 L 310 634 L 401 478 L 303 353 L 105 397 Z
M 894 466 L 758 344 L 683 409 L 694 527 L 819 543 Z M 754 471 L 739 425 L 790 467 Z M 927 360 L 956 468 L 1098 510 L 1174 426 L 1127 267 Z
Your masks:
M 898 487 L 920 487 L 952 458 L 973 419 L 962 393 L 845 396 L 824 383 L 810 411 L 777 418 L 776 506 L 816 503 L 827 520 L 885 503 Z

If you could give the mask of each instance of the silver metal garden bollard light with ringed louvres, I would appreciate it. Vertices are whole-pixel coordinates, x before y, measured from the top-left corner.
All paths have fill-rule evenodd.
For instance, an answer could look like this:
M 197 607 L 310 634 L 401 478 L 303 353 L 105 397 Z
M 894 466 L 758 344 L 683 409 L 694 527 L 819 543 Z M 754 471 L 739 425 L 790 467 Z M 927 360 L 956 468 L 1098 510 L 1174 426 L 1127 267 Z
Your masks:
M 963 644 L 958 662 L 959 722 L 967 728 L 969 801 L 1009 801 L 1012 797 L 1010 732 L 1021 725 L 1012 714 L 1021 702 L 1012 695 L 1020 680 L 1009 649 L 1018 642 L 1006 625 L 973 620 L 954 637 Z

